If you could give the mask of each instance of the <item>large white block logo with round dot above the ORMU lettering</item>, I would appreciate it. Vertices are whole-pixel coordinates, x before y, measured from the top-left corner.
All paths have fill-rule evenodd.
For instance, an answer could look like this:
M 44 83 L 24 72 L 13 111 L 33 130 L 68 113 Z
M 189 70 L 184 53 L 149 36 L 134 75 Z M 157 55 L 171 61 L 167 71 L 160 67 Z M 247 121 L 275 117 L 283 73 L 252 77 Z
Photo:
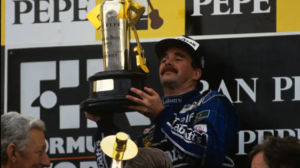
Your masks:
M 103 59 L 88 59 L 87 77 L 99 71 L 103 71 Z M 55 89 L 57 93 L 50 88 L 47 89 L 47 84 L 43 85 L 45 82 L 57 79 L 59 79 L 59 90 Z M 53 85 L 55 84 L 53 83 Z M 53 85 L 51 84 L 51 87 Z M 76 94 L 76 90 L 72 91 L 72 89 L 78 87 L 79 60 L 21 63 L 21 114 L 40 118 L 41 107 L 48 110 L 60 102 L 59 129 L 80 128 L 80 107 L 78 103 L 71 101 L 73 94 Z M 81 99 L 83 100 L 83 97 Z M 134 117 L 138 114 L 129 113 L 128 115 Z M 143 121 L 145 119 L 148 118 L 144 118 Z M 136 120 L 129 119 L 128 121 L 130 125 L 139 125 Z M 95 122 L 87 120 L 87 128 L 97 128 L 97 125 Z

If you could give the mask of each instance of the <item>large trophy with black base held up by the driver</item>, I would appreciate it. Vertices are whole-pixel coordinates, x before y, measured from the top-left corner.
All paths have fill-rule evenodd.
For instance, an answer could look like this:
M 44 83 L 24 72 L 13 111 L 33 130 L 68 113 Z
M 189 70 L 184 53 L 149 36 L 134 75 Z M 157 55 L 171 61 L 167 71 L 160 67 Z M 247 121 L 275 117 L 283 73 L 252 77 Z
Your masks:
M 89 98 L 81 102 L 81 110 L 88 113 L 132 111 L 122 108 L 123 105 L 135 104 L 125 97 L 131 95 L 140 98 L 130 88 L 144 91 L 145 73 L 149 72 L 134 26 L 144 12 L 145 7 L 133 0 L 105 0 L 88 13 L 88 20 L 93 26 L 96 29 L 101 27 L 104 71 L 88 78 Z M 137 40 L 138 46 L 133 51 L 141 72 L 131 70 L 130 28 Z

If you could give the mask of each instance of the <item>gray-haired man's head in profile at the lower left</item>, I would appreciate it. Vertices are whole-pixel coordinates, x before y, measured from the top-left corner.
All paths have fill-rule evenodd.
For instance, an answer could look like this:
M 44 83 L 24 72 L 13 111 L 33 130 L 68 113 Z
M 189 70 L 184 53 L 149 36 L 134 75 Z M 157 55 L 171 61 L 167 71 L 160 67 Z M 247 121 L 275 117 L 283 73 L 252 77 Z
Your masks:
M 50 166 L 45 124 L 40 119 L 8 112 L 1 116 L 1 168 Z

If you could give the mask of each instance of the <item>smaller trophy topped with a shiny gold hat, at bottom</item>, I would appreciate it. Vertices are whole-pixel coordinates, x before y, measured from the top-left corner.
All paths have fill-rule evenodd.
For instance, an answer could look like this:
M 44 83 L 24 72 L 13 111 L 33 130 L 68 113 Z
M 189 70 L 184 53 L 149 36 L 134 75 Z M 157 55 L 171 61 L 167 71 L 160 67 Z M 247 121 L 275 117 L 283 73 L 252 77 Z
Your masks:
M 123 132 L 103 138 L 100 147 L 112 158 L 110 168 L 123 168 L 124 160 L 132 159 L 138 154 L 137 145 Z

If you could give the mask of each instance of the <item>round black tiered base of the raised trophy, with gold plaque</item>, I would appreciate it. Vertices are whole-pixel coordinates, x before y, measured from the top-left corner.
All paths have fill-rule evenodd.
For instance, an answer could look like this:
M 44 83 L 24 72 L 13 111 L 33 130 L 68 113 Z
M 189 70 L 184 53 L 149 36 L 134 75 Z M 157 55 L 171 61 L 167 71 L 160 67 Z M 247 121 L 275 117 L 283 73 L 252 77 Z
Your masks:
M 80 109 L 91 114 L 124 113 L 134 110 L 124 105 L 137 105 L 125 97 L 131 95 L 142 99 L 130 91 L 134 87 L 144 91 L 147 77 L 141 72 L 114 70 L 95 73 L 88 78 L 90 82 L 89 98 L 80 104 Z

